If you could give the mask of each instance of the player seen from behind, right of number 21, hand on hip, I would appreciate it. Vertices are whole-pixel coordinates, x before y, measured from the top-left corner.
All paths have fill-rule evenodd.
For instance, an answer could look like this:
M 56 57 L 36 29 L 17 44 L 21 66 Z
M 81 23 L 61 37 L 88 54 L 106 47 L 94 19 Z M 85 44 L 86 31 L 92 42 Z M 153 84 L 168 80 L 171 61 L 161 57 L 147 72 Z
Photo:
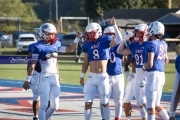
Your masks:
M 162 89 L 165 83 L 164 65 L 168 63 L 167 43 L 162 39 L 164 25 L 152 22 L 148 27 L 149 46 L 147 47 L 147 62 L 142 70 L 147 71 L 146 100 L 148 120 L 155 120 L 158 111 L 164 120 L 169 120 L 167 111 L 160 105 Z

